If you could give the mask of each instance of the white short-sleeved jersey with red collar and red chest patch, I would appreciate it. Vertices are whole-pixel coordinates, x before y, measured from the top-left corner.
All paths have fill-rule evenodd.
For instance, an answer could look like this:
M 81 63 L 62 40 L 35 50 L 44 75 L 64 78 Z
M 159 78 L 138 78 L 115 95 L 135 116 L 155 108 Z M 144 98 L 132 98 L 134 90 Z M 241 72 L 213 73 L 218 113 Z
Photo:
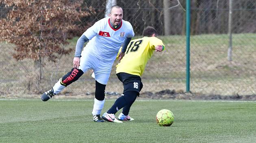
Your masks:
M 83 34 L 89 39 L 84 50 L 106 61 L 115 61 L 124 40 L 134 36 L 132 25 L 128 21 L 122 20 L 120 27 L 114 29 L 109 17 L 97 21 Z

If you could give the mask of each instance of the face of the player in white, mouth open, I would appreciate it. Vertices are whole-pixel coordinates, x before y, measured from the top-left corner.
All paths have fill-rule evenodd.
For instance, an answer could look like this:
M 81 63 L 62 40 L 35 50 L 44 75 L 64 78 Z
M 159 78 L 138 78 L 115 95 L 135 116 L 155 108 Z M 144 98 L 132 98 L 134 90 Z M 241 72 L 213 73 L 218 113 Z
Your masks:
M 109 14 L 110 21 L 114 26 L 119 25 L 123 19 L 123 10 L 122 8 L 112 8 L 112 11 Z

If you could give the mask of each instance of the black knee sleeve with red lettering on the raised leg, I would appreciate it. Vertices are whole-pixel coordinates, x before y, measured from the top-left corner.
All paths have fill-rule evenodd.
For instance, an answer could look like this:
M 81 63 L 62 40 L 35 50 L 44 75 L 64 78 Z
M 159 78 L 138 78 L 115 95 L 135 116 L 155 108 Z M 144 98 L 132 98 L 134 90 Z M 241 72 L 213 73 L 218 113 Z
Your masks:
M 72 82 L 75 82 L 82 76 L 84 72 L 81 69 L 73 68 L 71 71 L 69 71 L 65 76 L 62 77 L 61 85 L 68 86 L 69 84 L 72 84 Z

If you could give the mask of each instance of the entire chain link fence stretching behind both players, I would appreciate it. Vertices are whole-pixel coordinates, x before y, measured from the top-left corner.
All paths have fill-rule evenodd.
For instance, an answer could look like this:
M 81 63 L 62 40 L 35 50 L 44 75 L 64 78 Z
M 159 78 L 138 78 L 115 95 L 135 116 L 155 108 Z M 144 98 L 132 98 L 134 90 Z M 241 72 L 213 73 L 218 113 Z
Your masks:
M 230 2 L 231 1 L 231 2 Z M 81 21 L 95 23 L 102 19 L 108 0 L 85 0 L 93 8 Z M 142 76 L 141 92 L 161 90 L 186 91 L 186 0 L 117 0 L 140 38 L 146 26 L 153 26 L 166 50 L 154 53 Z M 231 5 L 230 5 L 231 4 Z M 0 18 L 6 19 L 10 7 L 0 2 Z M 205 95 L 256 94 L 256 1 L 191 0 L 190 90 Z M 231 14 L 230 14 L 231 13 Z M 231 20 L 229 20 L 231 19 Z M 4 25 L 1 25 L 4 26 Z M 230 30 L 229 30 L 230 29 Z M 82 31 L 83 32 L 83 31 Z M 15 34 L 14 34 L 15 35 Z M 76 40 L 64 48 L 75 50 Z M 19 40 L 19 38 L 17 38 Z M 0 95 L 38 94 L 50 89 L 73 67 L 74 50 L 58 55 L 56 62 L 43 58 L 43 69 L 34 61 L 13 59 L 15 45 L 0 43 Z M 115 65 L 106 86 L 107 92 L 122 93 L 123 86 L 115 76 Z M 42 70 L 41 80 L 38 79 Z M 91 72 L 69 85 L 61 94 L 86 95 L 95 90 Z

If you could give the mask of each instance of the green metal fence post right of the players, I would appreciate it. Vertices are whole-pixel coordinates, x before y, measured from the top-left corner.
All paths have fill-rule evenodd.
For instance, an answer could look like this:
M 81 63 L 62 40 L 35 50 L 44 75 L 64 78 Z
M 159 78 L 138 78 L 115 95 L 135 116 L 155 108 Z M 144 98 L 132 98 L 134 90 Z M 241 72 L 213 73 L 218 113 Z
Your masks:
M 190 91 L 190 0 L 186 4 L 186 92 Z

